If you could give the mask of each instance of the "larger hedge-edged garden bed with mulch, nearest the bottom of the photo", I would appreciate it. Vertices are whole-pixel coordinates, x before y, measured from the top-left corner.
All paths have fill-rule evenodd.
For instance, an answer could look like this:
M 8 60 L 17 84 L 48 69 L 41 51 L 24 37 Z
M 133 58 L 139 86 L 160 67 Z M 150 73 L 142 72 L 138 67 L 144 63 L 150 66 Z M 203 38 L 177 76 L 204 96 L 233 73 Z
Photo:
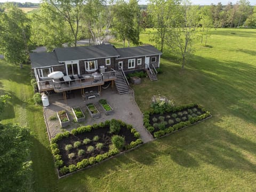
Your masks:
M 59 176 L 99 163 L 140 145 L 140 134 L 122 121 L 112 119 L 59 133 L 51 150 Z

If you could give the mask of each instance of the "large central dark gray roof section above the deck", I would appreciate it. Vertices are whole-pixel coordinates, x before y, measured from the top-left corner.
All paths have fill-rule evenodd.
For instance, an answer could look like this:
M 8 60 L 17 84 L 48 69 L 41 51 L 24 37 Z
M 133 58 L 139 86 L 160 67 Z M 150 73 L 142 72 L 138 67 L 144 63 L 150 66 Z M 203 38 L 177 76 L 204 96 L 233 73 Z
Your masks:
M 96 59 L 119 56 L 113 45 L 63 47 L 54 49 L 59 61 Z

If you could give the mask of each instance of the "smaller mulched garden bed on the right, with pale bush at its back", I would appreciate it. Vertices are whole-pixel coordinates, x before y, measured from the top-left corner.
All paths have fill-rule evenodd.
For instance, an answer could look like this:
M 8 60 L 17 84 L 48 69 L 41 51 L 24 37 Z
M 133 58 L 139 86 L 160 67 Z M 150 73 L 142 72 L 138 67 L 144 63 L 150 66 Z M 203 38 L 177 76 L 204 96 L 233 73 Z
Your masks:
M 143 123 L 154 138 L 158 138 L 210 116 L 209 111 L 196 103 L 174 107 L 161 101 L 151 105 L 150 111 L 144 115 Z

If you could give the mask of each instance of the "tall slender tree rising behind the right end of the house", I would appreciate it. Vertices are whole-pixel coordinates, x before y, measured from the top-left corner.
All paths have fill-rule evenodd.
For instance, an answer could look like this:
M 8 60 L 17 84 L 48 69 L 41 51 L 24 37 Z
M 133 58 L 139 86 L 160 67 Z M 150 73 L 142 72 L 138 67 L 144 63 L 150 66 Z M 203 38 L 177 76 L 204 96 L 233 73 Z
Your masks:
M 148 10 L 153 20 L 156 34 L 154 35 L 153 41 L 156 43 L 160 50 L 163 52 L 165 45 L 166 34 L 171 23 L 175 21 L 177 5 L 180 3 L 179 0 L 149 0 Z

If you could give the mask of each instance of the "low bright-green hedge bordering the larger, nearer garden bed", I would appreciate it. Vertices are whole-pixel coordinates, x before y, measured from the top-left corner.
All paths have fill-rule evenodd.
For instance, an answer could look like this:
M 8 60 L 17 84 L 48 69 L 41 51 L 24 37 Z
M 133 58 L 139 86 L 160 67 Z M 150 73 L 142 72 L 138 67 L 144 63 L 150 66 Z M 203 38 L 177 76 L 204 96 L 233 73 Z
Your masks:
M 52 139 L 52 141 L 51 141 L 52 144 L 51 144 L 50 148 L 51 148 L 54 160 L 55 160 L 55 166 L 59 169 L 61 175 L 74 172 L 74 171 L 82 169 L 86 166 L 93 165 L 94 163 L 99 163 L 99 162 L 103 161 L 104 159 L 109 158 L 109 157 L 114 156 L 119 153 L 118 149 L 111 149 L 105 154 L 97 155 L 96 157 L 90 157 L 89 159 L 83 159 L 81 162 L 78 162 L 76 165 L 72 164 L 67 167 L 67 166 L 63 166 L 63 161 L 61 159 L 59 146 L 57 144 L 57 142 L 60 141 L 61 139 L 68 138 L 70 134 L 77 135 L 77 134 L 81 134 L 84 132 L 90 132 L 90 131 L 92 131 L 92 129 L 98 129 L 99 127 L 110 126 L 111 122 L 119 123 L 121 126 L 126 127 L 126 129 L 130 130 L 131 133 L 134 135 L 134 137 L 137 138 L 136 141 L 132 141 L 129 145 L 125 146 L 126 150 L 134 148 L 142 143 L 142 140 L 139 139 L 140 133 L 137 132 L 132 127 L 132 125 L 126 124 L 126 123 L 122 122 L 121 120 L 115 120 L 115 119 L 112 119 L 111 121 L 107 120 L 107 121 L 99 123 L 99 124 L 80 126 L 77 129 L 72 130 L 71 133 L 68 131 L 59 133 Z

